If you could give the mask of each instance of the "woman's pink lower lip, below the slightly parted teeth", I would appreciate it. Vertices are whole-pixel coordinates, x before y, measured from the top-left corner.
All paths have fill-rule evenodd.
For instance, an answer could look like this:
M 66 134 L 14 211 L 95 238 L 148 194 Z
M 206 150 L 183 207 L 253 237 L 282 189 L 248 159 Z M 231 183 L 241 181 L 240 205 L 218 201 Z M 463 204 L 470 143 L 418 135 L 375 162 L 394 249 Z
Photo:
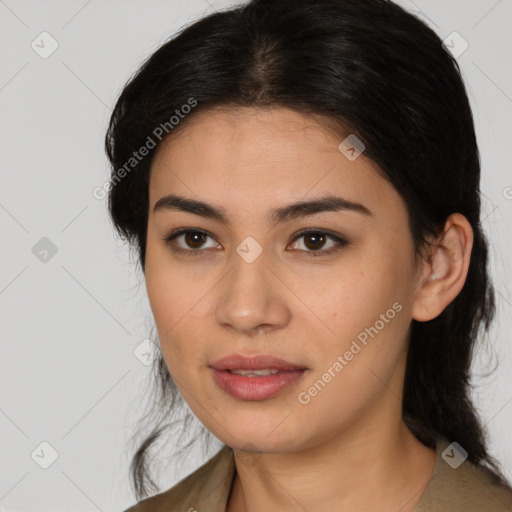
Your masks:
M 227 370 L 211 368 L 217 385 L 235 398 L 241 400 L 265 400 L 295 384 L 304 375 L 305 370 L 284 371 L 264 377 L 245 377 Z

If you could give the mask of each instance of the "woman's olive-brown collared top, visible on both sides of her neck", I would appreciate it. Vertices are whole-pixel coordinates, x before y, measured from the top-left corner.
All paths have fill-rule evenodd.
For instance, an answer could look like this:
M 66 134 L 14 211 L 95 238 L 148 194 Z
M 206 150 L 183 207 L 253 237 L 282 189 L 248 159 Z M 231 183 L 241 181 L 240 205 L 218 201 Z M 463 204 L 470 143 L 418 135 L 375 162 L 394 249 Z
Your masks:
M 494 485 L 490 472 L 468 460 L 457 464 L 453 449 L 443 454 L 449 445 L 445 438 L 438 439 L 434 470 L 414 512 L 512 511 L 512 489 Z M 224 445 L 174 487 L 125 512 L 226 512 L 235 474 L 233 451 Z

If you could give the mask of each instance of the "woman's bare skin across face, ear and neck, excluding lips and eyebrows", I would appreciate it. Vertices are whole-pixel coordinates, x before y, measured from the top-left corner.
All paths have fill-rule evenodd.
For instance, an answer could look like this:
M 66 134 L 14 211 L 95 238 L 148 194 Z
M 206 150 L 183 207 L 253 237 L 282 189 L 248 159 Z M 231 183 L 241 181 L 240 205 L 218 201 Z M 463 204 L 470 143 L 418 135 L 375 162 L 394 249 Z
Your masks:
M 344 138 L 344 137 L 343 137 Z M 228 512 L 414 509 L 435 451 L 401 417 L 412 319 L 438 316 L 464 285 L 472 230 L 451 215 L 445 235 L 415 260 L 407 207 L 364 156 L 312 116 L 289 109 L 197 113 L 152 163 L 146 287 L 163 357 L 199 420 L 235 451 Z M 223 207 L 230 223 L 155 203 L 179 194 Z M 328 211 L 279 225 L 268 212 L 337 195 L 372 216 Z M 175 253 L 163 238 L 176 228 Z M 328 230 L 348 244 L 296 238 Z M 236 248 L 248 236 L 263 249 L 252 263 Z M 187 244 L 188 242 L 188 244 Z M 429 279 L 435 273 L 435 279 Z M 298 400 L 357 335 L 394 303 L 402 308 L 309 403 Z M 308 368 L 277 396 L 239 400 L 212 379 L 209 364 L 232 352 L 269 353 Z M 249 457 L 252 455 L 252 457 Z M 199 504 L 200 505 L 200 504 Z

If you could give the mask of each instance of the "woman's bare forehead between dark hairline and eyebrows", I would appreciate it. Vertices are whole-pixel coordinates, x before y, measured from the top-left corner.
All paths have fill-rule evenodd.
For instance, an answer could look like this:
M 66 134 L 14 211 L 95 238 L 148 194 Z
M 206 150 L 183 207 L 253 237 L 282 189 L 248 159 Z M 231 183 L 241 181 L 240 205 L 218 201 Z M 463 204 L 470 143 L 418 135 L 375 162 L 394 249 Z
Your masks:
M 312 116 L 244 108 L 198 112 L 190 121 L 154 157 L 150 210 L 170 193 L 248 214 L 332 194 L 372 211 L 400 203 L 373 161 L 364 153 L 349 160 L 339 150 L 343 136 Z

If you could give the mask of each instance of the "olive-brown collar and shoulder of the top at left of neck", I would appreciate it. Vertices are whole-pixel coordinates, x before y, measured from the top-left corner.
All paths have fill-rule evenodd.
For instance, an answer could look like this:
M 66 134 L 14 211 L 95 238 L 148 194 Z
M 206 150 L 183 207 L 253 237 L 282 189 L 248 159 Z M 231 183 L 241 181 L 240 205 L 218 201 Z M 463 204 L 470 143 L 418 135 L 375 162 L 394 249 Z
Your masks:
M 233 452 L 225 445 L 167 491 L 146 498 L 124 512 L 225 512 L 234 473 Z

